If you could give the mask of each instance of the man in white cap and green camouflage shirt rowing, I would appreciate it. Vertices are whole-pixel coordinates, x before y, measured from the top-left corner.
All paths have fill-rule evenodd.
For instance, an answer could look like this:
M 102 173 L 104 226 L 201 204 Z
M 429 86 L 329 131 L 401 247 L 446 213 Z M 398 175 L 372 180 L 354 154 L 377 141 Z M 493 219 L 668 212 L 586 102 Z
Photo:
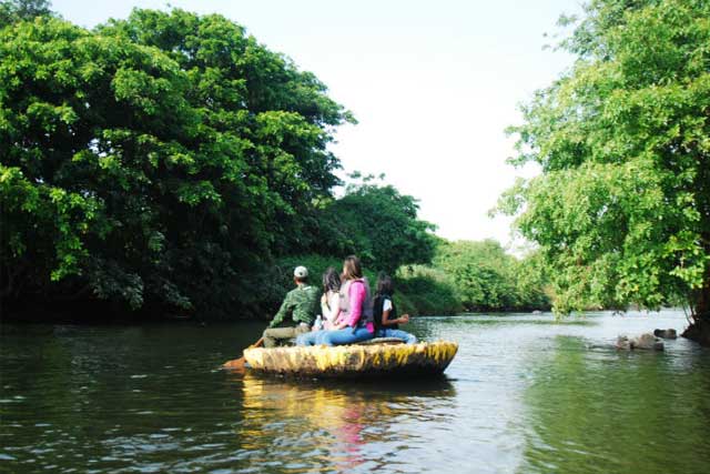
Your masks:
M 308 284 L 308 270 L 305 266 L 296 266 L 293 272 L 293 281 L 296 283 L 296 288 L 286 293 L 274 320 L 264 331 L 264 347 L 275 347 L 278 340 L 290 340 L 311 331 L 321 292 L 317 288 Z M 276 327 L 288 315 L 294 325 Z

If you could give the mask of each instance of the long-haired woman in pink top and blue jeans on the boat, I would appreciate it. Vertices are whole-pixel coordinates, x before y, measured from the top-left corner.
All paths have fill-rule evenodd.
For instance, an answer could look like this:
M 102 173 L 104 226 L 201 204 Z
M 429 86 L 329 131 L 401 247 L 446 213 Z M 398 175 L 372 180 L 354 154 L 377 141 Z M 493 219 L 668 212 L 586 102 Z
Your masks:
M 341 314 L 332 331 L 318 334 L 316 344 L 343 345 L 373 339 L 373 302 L 369 285 L 363 278 L 359 259 L 351 255 L 343 262 L 341 286 Z

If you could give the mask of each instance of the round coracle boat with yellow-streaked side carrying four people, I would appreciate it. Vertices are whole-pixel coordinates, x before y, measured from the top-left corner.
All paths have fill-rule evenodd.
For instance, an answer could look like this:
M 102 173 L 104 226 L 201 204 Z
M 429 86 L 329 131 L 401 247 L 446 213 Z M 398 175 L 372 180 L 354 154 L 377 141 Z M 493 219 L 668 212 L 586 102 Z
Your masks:
M 400 341 L 396 341 L 400 342 Z M 295 377 L 371 379 L 438 375 L 452 362 L 458 344 L 417 344 L 375 339 L 366 344 L 308 347 L 250 347 L 244 359 L 251 371 Z

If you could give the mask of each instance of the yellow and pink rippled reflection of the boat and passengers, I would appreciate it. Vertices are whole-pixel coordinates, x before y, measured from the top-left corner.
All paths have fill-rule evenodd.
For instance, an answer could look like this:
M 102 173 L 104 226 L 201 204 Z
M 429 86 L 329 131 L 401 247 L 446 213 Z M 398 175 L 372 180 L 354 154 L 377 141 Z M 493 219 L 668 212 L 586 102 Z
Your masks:
M 453 386 L 445 379 L 424 386 L 414 384 L 353 382 L 296 382 L 246 375 L 243 386 L 243 422 L 239 428 L 242 450 L 251 463 L 274 472 L 369 471 L 377 466 L 371 450 L 406 440 L 397 420 L 426 417 L 426 400 L 450 400 Z M 432 411 L 432 416 L 440 414 Z M 367 455 L 369 454 L 369 456 Z M 385 453 L 381 453 L 385 454 Z M 291 460 L 291 464 L 290 464 Z M 295 460 L 298 460 L 295 462 Z

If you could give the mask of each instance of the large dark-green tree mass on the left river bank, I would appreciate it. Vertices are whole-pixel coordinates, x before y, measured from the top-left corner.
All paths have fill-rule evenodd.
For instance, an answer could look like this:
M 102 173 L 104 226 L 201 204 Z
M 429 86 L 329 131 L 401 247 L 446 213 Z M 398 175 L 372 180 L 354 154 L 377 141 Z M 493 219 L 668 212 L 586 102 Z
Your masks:
M 0 30 L 2 299 L 239 310 L 338 183 L 352 120 L 220 16 Z M 234 306 L 232 306 L 235 304 Z

